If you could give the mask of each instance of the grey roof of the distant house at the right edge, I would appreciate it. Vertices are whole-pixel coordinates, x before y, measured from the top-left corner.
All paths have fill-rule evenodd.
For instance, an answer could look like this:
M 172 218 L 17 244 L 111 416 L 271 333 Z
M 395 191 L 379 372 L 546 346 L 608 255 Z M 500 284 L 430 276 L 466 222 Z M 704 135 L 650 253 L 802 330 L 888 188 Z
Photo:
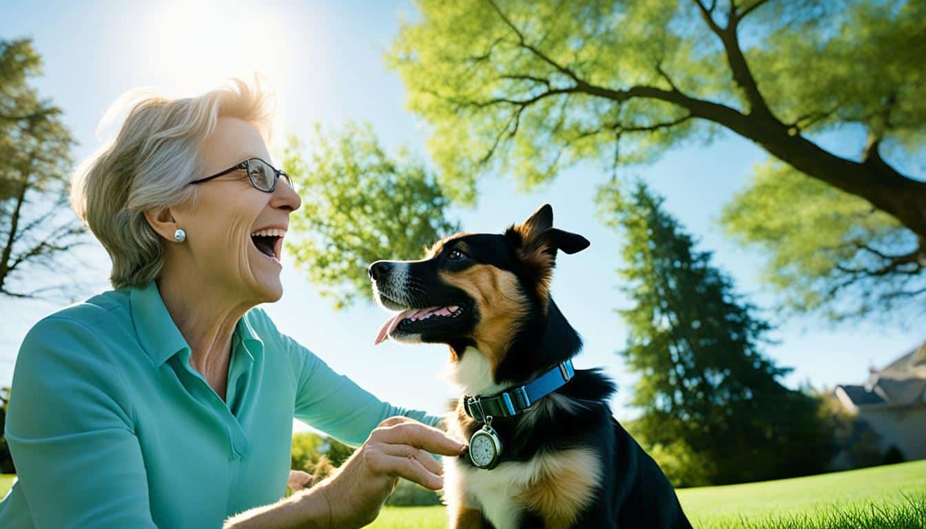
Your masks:
M 836 386 L 849 406 L 913 406 L 926 402 L 926 342 L 880 370 L 871 370 L 869 384 Z

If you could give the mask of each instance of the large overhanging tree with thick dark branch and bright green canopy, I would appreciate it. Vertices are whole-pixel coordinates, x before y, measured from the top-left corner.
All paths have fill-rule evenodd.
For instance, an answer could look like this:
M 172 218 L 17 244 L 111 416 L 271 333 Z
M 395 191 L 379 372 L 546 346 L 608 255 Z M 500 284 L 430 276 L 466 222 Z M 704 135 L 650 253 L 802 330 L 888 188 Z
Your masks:
M 432 124 L 433 157 L 457 196 L 472 199 L 489 172 L 530 185 L 578 161 L 646 162 L 730 131 L 909 235 L 887 248 L 864 231 L 844 237 L 856 251 L 831 255 L 825 288 L 870 277 L 855 272 L 863 267 L 926 273 L 926 183 L 897 163 L 920 155 L 926 132 L 926 3 L 418 4 L 389 60 L 411 109 Z M 857 152 L 820 144 L 846 126 L 867 138 Z M 879 260 L 859 263 L 868 258 Z

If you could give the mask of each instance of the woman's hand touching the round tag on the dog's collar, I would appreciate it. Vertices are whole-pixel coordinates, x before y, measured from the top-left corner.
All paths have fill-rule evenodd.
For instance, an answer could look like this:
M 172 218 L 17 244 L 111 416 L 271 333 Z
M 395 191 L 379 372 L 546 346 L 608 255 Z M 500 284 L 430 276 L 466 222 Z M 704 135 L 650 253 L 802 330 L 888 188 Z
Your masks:
M 440 490 L 444 470 L 431 454 L 458 456 L 465 451 L 466 445 L 436 428 L 391 417 L 373 430 L 338 472 L 313 490 L 318 488 L 328 501 L 330 527 L 361 527 L 379 514 L 397 477 Z

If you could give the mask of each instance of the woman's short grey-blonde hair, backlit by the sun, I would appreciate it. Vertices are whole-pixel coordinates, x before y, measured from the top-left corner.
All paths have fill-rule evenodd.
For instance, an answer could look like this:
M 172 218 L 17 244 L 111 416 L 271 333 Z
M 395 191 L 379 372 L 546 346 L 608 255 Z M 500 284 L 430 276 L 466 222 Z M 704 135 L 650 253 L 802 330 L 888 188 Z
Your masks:
M 259 82 L 250 86 L 233 79 L 196 97 L 132 91 L 106 112 L 110 116 L 119 107 L 131 107 L 116 139 L 77 170 L 70 202 L 109 253 L 113 288 L 141 287 L 160 275 L 166 243 L 144 212 L 194 200 L 195 186 L 187 183 L 201 170 L 199 145 L 219 117 L 251 122 L 269 141 L 269 102 Z

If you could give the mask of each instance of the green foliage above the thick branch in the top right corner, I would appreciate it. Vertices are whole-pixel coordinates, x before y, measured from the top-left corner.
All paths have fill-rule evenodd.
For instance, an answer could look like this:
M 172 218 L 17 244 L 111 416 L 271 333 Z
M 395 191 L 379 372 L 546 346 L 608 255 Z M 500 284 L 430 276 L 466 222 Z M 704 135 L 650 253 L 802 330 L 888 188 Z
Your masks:
M 921 152 L 926 72 L 916 62 L 926 49 L 926 4 L 771 2 L 755 22 L 763 42 L 747 50 L 749 66 L 795 132 L 857 123 L 890 149 Z

